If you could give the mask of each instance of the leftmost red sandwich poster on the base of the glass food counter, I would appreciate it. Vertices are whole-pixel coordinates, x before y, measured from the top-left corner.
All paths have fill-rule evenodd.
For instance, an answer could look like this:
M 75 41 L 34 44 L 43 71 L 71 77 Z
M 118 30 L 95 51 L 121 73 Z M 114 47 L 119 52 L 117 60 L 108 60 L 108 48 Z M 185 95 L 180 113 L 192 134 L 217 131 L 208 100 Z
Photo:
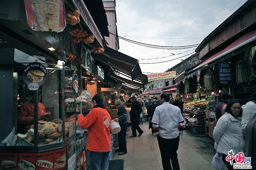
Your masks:
M 17 169 L 18 153 L 1 153 L 0 169 Z

